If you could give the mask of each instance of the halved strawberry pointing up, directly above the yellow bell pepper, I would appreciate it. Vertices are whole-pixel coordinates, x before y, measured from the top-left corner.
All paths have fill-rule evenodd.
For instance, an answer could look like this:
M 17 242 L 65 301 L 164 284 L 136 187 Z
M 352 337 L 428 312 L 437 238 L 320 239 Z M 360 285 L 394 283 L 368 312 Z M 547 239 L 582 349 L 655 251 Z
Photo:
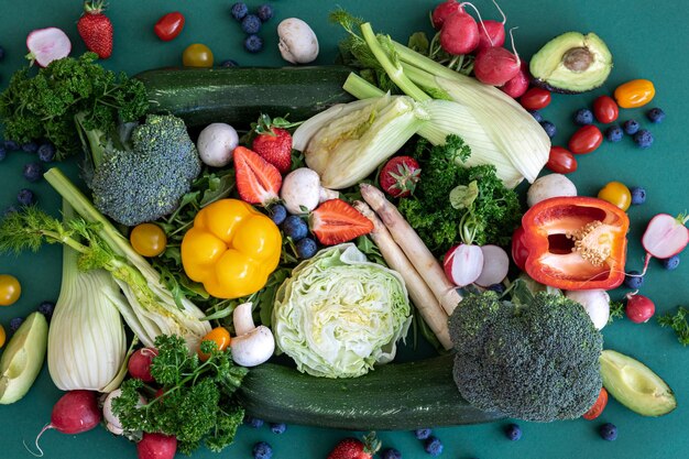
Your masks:
M 251 150 L 238 146 L 232 152 L 239 196 L 249 204 L 266 206 L 278 199 L 280 171 Z

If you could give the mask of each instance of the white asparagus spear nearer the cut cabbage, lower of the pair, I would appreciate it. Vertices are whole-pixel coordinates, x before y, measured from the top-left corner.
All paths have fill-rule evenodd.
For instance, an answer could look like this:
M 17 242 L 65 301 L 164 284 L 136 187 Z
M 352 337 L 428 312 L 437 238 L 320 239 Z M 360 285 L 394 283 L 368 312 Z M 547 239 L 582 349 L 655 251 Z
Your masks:
M 371 210 L 371 208 L 360 200 L 354 203 L 354 208 L 359 210 L 364 217 L 373 222 L 373 231 L 371 231 L 371 239 L 381 250 L 381 254 L 387 265 L 400 273 L 404 283 L 409 292 L 412 302 L 418 308 L 422 317 L 428 324 L 428 327 L 433 330 L 434 335 L 440 341 L 440 345 L 445 349 L 452 349 L 452 341 L 450 340 L 450 331 L 448 329 L 448 315 L 442 309 L 442 306 L 438 303 L 438 299 L 434 296 L 424 278 L 416 272 L 409 259 L 406 258 L 400 245 L 387 231 L 387 228 L 383 225 L 380 218 Z

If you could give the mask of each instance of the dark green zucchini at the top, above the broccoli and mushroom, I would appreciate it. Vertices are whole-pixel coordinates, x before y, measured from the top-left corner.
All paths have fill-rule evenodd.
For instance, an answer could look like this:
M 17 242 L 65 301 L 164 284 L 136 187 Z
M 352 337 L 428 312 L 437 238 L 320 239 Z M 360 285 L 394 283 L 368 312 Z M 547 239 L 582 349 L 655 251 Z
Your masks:
M 354 100 L 342 89 L 350 72 L 337 65 L 160 68 L 135 78 L 146 87 L 152 113 L 173 113 L 189 128 L 214 122 L 248 127 L 262 112 L 303 121 L 336 103 Z

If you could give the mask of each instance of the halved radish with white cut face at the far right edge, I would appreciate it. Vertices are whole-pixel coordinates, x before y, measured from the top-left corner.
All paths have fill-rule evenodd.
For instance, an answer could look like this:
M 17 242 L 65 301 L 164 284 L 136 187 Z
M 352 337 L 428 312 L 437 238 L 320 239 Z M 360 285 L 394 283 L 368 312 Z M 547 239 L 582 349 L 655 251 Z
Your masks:
M 642 237 L 642 245 L 646 250 L 642 274 L 646 273 L 652 256 L 669 259 L 685 250 L 689 243 L 689 229 L 685 226 L 687 220 L 689 215 L 672 217 L 668 214 L 658 214 L 650 219 Z

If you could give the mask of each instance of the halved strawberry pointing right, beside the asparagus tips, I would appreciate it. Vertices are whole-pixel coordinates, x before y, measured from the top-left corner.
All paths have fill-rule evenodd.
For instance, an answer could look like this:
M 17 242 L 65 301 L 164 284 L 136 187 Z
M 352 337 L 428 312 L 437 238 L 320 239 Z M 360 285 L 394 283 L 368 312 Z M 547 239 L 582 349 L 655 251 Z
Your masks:
M 373 223 L 342 199 L 322 203 L 309 216 L 309 227 L 325 245 L 335 245 L 368 234 Z

